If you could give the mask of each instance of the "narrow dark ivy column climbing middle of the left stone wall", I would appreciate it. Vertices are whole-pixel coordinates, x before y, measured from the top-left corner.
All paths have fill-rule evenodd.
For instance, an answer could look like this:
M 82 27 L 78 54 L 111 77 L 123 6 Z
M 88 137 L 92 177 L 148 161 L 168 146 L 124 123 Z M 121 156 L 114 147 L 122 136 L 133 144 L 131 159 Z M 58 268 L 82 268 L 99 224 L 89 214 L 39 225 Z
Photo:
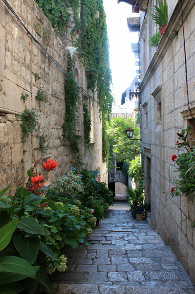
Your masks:
M 80 104 L 80 87 L 76 81 L 74 81 L 72 66 L 72 59 L 70 53 L 68 53 L 68 76 L 65 80 L 65 122 L 63 124 L 63 135 L 75 153 L 75 166 L 80 167 L 83 164 L 80 152 L 81 136 L 75 133 L 75 113 L 78 112 L 78 105 Z

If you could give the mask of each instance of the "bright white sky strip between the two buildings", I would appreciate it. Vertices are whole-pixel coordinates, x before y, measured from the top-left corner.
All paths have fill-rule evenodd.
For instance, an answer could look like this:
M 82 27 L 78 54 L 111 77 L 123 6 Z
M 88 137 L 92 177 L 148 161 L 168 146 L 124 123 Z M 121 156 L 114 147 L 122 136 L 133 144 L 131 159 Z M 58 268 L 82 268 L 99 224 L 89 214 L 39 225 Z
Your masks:
M 117 0 L 104 0 L 110 44 L 110 67 L 113 78 L 113 93 L 116 106 L 121 105 L 122 93 L 130 86 L 135 77 L 135 58 L 130 43 L 138 42 L 138 33 L 131 33 L 127 24 L 132 6 Z M 132 16 L 139 14 L 133 13 Z

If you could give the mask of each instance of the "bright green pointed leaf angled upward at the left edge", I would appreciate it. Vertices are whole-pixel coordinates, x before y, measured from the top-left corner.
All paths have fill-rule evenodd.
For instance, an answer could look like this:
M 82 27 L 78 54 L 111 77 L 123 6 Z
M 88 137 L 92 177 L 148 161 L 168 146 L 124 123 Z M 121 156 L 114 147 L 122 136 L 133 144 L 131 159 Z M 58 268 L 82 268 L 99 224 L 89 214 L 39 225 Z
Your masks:
M 0 251 L 3 250 L 10 242 L 11 236 L 13 235 L 17 224 L 18 218 L 14 218 L 8 224 L 0 228 Z

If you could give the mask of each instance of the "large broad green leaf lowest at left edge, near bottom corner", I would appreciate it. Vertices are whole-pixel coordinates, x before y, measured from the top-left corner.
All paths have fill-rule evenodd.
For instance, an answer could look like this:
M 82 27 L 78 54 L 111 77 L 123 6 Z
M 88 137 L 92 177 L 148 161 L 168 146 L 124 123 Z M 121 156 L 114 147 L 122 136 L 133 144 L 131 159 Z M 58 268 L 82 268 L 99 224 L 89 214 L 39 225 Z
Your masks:
M 36 279 L 35 269 L 24 259 L 16 256 L 4 256 L 0 258 L 0 264 L 4 272 L 24 275 Z

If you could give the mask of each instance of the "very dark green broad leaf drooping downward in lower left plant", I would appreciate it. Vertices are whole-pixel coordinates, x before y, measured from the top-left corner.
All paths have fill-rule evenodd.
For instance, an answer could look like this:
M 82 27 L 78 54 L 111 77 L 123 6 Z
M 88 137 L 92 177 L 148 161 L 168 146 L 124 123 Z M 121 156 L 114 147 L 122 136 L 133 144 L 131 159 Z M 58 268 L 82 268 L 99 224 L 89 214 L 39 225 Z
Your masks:
M 40 240 L 38 237 L 22 237 L 13 236 L 13 243 L 20 256 L 29 262 L 34 264 L 39 253 Z

